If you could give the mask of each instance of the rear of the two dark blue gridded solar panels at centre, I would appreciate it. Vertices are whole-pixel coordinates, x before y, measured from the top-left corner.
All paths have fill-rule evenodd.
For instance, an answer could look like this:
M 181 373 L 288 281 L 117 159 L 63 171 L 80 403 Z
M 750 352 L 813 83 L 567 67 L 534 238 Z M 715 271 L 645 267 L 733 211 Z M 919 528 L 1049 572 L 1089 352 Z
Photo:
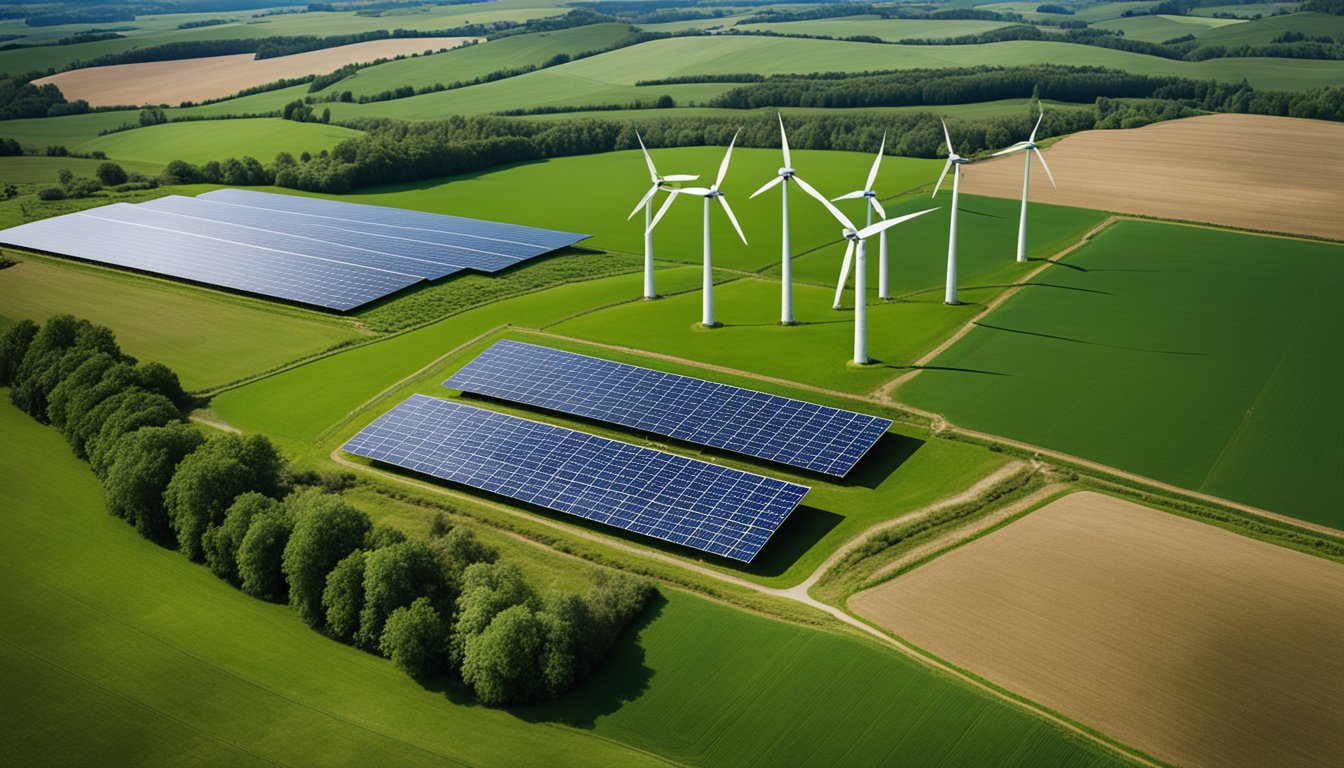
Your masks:
M 444 386 L 841 477 L 891 426 L 852 410 L 508 340 Z

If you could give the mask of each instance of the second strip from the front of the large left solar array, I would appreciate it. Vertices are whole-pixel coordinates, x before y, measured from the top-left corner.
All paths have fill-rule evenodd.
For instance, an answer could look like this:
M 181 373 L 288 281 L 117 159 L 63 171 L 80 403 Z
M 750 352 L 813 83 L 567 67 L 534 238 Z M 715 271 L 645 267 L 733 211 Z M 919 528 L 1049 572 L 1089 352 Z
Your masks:
M 382 269 L 398 274 L 423 277 L 426 280 L 435 280 L 454 272 L 461 272 L 458 266 L 419 261 L 376 250 L 363 250 L 335 242 L 306 239 L 249 226 L 181 217 L 129 203 L 102 206 L 83 211 L 83 214 L 98 219 L 140 225 L 156 230 L 175 231 L 243 246 L 265 247 L 321 261 Z

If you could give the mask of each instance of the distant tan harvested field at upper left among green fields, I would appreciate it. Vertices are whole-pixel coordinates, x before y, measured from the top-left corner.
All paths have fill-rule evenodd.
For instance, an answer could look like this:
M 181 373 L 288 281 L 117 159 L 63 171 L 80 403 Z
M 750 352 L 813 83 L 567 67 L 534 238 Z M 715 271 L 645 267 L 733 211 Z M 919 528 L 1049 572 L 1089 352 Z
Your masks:
M 429 50 L 456 48 L 474 38 L 396 38 L 323 48 L 290 56 L 254 59 L 251 54 L 144 62 L 70 70 L 42 78 L 60 87 L 66 98 L 93 106 L 138 104 L 177 105 L 233 95 L 245 87 L 325 74 L 345 65 L 371 62 Z

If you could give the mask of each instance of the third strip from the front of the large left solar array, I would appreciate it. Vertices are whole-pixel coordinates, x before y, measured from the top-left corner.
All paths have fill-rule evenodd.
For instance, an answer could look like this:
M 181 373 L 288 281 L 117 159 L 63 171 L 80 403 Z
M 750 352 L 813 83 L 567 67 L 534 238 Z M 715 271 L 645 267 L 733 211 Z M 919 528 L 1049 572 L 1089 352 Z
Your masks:
M 359 231 L 341 229 L 341 223 L 333 219 L 321 219 L 269 208 L 250 208 L 246 206 L 231 206 L 227 203 L 212 203 L 200 198 L 184 198 L 169 195 L 138 203 L 138 208 L 191 217 L 194 219 L 223 222 L 230 225 L 249 226 L 257 230 L 284 233 L 292 237 L 306 238 L 313 242 L 340 243 L 349 247 L 390 253 L 418 261 L 450 266 L 456 269 L 476 269 L 480 272 L 499 272 L 513 266 L 517 260 L 473 247 L 453 245 L 452 235 L 437 233 L 414 233 L 411 230 L 396 230 L 383 227 L 388 233 Z M 411 237 L 403 237 L 403 235 Z M 427 237 L 419 237 L 425 234 Z M 445 241 L 445 242 L 437 242 Z

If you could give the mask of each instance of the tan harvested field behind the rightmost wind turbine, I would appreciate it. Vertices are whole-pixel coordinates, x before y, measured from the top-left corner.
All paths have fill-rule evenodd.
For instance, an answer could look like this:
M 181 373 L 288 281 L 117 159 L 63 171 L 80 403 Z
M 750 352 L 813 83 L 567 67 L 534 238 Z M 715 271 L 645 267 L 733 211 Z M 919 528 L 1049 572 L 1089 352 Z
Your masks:
M 1085 130 L 1044 151 L 1059 190 L 1032 168 L 1032 202 L 1344 239 L 1344 125 L 1207 114 L 1130 130 Z M 976 163 L 964 191 L 1021 196 L 1021 157 Z

